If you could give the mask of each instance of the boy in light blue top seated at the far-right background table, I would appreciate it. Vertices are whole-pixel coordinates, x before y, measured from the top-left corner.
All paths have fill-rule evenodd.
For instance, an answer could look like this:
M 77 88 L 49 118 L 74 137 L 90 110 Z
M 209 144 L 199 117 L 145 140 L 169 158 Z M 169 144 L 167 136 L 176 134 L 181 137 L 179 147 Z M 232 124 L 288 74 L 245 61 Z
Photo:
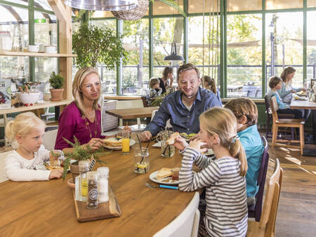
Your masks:
M 280 79 L 278 76 L 271 76 L 269 79 L 269 87 L 270 90 L 268 90 L 268 93 L 266 94 L 267 99 L 268 102 L 271 104 L 271 97 L 276 97 L 277 105 L 279 106 L 277 114 L 294 114 L 294 118 L 303 118 L 303 113 L 301 109 L 290 109 L 289 104 L 285 104 L 284 102 L 282 102 L 281 97 L 279 97 L 279 93 L 277 93 L 277 90 L 281 90 L 282 88 L 282 79 Z

